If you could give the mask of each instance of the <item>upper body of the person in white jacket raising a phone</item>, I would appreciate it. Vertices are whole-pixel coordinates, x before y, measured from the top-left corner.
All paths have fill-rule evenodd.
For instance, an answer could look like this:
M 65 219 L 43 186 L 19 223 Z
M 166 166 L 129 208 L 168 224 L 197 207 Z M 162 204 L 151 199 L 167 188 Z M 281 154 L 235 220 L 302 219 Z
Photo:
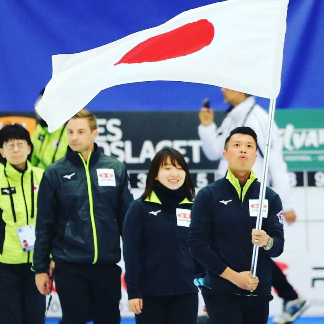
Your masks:
M 220 160 L 216 174 L 217 178 L 224 177 L 227 170 L 227 162 L 223 158 L 223 143 L 229 135 L 229 132 L 235 127 L 249 126 L 258 136 L 257 160 L 252 170 L 261 181 L 268 114 L 255 102 L 253 96 L 225 88 L 221 88 L 221 90 L 225 102 L 231 104 L 233 108 L 230 108 L 230 111 L 219 128 L 214 123 L 213 110 L 210 108 L 201 109 L 199 113 L 201 124 L 198 127 L 198 134 L 202 141 L 203 152 L 211 161 Z M 275 122 L 272 129 L 269 174 L 267 178 L 267 186 L 271 183 L 273 190 L 278 193 L 283 202 L 286 221 L 288 223 L 295 222 L 296 215 L 293 210 L 289 174 L 283 158 L 279 128 Z

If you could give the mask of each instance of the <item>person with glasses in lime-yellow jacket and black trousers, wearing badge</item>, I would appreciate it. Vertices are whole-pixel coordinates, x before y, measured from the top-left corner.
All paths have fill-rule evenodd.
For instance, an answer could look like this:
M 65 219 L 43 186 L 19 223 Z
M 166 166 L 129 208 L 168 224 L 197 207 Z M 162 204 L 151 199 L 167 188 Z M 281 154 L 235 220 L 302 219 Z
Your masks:
M 33 145 L 23 126 L 0 130 L 0 314 L 2 323 L 43 324 L 45 297 L 30 270 L 37 194 L 43 170 L 28 161 Z

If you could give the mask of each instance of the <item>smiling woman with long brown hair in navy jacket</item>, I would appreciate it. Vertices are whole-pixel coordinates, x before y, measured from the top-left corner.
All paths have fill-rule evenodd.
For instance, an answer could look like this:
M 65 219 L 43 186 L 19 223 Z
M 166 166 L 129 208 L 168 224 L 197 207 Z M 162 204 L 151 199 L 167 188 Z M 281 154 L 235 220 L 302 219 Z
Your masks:
M 129 309 L 137 324 L 195 324 L 200 266 L 189 253 L 188 229 L 195 191 L 183 156 L 156 153 L 145 192 L 125 217 L 123 250 Z

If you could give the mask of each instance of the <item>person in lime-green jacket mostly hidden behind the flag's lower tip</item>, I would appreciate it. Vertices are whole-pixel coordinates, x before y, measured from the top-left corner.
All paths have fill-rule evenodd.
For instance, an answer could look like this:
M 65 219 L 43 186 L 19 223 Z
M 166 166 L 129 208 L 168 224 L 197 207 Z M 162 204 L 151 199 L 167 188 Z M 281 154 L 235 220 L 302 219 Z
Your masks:
M 36 100 L 34 107 L 37 107 L 38 102 L 41 100 L 45 89 L 41 90 L 40 96 Z M 67 139 L 65 125 L 61 126 L 53 133 L 49 133 L 47 129 L 47 123 L 44 119 L 37 114 L 38 124 L 35 132 L 31 137 L 31 141 L 34 145 L 34 150 L 31 156 L 31 164 L 42 169 L 46 169 L 47 166 L 53 162 L 60 160 L 66 154 Z

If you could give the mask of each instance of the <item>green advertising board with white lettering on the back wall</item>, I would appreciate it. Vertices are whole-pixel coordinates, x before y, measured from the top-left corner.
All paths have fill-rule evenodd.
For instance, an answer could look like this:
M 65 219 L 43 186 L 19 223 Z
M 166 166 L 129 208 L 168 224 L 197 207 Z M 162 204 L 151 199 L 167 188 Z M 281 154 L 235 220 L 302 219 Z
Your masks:
M 288 169 L 324 169 L 324 109 L 277 110 Z

